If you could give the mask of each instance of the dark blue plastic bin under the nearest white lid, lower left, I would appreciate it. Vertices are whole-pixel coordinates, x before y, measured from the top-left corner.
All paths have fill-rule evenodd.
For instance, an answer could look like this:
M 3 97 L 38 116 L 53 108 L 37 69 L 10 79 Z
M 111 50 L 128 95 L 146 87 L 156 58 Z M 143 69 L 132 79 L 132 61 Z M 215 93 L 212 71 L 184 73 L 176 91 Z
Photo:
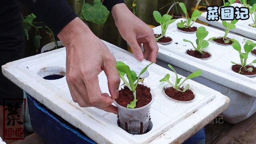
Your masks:
M 96 144 L 81 130 L 27 94 L 30 121 L 34 132 L 49 144 Z

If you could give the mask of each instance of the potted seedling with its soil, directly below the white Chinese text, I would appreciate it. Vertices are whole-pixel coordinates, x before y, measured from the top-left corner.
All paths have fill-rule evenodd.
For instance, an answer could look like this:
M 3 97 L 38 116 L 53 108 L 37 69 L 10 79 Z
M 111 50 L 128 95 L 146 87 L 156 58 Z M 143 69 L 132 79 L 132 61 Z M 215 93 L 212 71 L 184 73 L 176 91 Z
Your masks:
M 227 21 L 222 21 L 222 25 L 225 27 L 225 34 L 224 36 L 220 36 L 220 37 L 212 37 L 209 38 L 208 41 L 213 40 L 216 44 L 220 44 L 223 46 L 230 46 L 232 45 L 232 40 L 230 38 L 227 37 L 228 33 L 230 32 L 230 30 L 233 30 L 236 28 L 236 22 L 237 20 L 232 20 L 231 22 L 227 22 Z

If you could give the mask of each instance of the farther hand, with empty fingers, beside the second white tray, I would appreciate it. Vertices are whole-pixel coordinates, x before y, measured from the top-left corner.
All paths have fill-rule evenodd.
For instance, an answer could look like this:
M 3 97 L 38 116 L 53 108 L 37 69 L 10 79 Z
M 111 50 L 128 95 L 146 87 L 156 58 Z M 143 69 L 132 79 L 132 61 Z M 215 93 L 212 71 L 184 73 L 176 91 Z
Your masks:
M 137 60 L 145 58 L 156 63 L 158 45 L 153 29 L 136 17 L 124 3 L 116 4 L 112 8 L 112 15 L 121 36 L 130 44 Z M 141 50 L 141 44 L 144 52 Z

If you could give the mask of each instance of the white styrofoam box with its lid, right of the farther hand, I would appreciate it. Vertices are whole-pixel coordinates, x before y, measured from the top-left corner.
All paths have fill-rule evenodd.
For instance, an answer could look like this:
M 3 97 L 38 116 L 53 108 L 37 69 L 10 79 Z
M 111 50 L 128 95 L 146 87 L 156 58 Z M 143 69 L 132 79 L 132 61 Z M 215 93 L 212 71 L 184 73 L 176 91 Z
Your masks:
M 254 114 L 256 112 L 256 101 L 254 101 L 256 97 L 256 78 L 248 78 L 230 69 L 232 66 L 230 61 L 240 62 L 238 52 L 232 46 L 221 46 L 214 42 L 209 42 L 209 46 L 205 50 L 212 53 L 212 58 L 200 60 L 189 56 L 185 52 L 187 49 L 193 47 L 190 43 L 184 42 L 183 39 L 190 40 L 195 44 L 196 34 L 186 34 L 178 31 L 177 22 L 180 22 L 180 19 L 168 27 L 166 34 L 167 36 L 171 36 L 174 42 L 168 45 L 158 44 L 160 48 L 158 59 L 165 62 L 160 65 L 166 67 L 169 63 L 177 66 L 181 68 L 178 73 L 184 76 L 188 76 L 188 72 L 194 72 L 197 68 L 200 68 L 203 71 L 202 77 L 204 79 L 198 82 L 220 91 L 231 99 L 228 111 L 223 113 L 225 120 L 228 122 L 236 123 Z M 199 27 L 204 25 L 194 23 L 194 26 Z M 204 27 L 209 31 L 206 40 L 214 36 L 224 35 L 224 32 L 221 30 L 209 26 Z M 155 34 L 159 32 L 161 32 L 160 26 L 154 28 Z M 228 34 L 228 37 L 235 38 L 243 47 L 244 42 L 242 36 Z M 256 59 L 256 56 L 249 54 L 248 62 L 254 59 Z

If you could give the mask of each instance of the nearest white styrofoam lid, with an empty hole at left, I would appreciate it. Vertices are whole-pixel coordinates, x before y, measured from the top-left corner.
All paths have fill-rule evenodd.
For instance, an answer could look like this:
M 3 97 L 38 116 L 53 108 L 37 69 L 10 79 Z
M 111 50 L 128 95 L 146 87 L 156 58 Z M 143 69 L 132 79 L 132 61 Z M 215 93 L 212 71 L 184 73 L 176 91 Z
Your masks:
M 129 52 L 104 42 L 116 60 L 121 60 L 130 67 L 144 67 L 149 64 L 144 60 L 138 62 Z M 148 68 L 149 77 L 144 84 L 154 90 L 155 101 L 151 107 L 153 128 L 143 135 L 132 135 L 117 126 L 117 116 L 96 108 L 81 108 L 72 101 L 66 78 L 44 80 L 37 75 L 38 70 L 46 66 L 66 67 L 64 48 L 48 53 L 24 58 L 2 66 L 4 76 L 28 92 L 50 110 L 80 128 L 87 136 L 99 144 L 146 144 L 146 143 L 182 143 L 213 118 L 223 112 L 229 104 L 229 98 L 202 84 L 188 80 L 196 92 L 196 99 L 190 103 L 174 102 L 164 96 L 159 80 L 170 73 L 156 64 Z M 104 72 L 99 74 L 102 92 L 108 93 L 107 79 Z M 122 84 L 122 82 L 121 82 Z

